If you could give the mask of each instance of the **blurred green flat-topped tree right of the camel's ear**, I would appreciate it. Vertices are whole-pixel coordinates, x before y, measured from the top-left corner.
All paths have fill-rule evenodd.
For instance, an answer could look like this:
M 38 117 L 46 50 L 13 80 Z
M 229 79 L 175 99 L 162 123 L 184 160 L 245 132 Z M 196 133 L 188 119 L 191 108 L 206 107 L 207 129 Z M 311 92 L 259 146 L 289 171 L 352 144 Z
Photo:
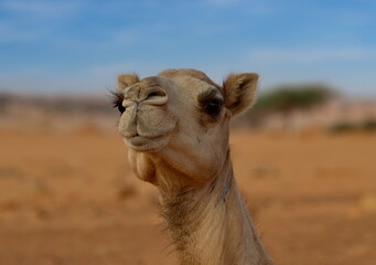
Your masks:
M 307 110 L 322 105 L 334 95 L 334 92 L 321 84 L 282 85 L 261 94 L 250 110 L 250 123 L 259 126 L 262 119 L 280 113 L 288 127 L 290 115 L 296 110 Z

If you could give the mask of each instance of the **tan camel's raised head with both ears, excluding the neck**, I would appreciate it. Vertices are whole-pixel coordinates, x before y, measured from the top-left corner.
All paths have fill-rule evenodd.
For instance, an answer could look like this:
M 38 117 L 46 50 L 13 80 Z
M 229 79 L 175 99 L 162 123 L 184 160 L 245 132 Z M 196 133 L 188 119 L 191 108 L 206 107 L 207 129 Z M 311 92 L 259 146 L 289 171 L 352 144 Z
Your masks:
M 232 74 L 219 86 L 196 70 L 118 76 L 118 129 L 137 177 L 157 187 L 212 181 L 228 156 L 229 119 L 254 103 L 257 80 Z

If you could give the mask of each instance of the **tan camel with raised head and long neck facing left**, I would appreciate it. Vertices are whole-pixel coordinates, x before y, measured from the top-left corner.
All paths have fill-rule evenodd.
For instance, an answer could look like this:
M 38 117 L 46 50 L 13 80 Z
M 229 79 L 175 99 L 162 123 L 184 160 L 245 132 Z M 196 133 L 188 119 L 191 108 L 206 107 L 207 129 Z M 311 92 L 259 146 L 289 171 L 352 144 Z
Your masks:
M 184 265 L 270 265 L 234 178 L 229 120 L 255 102 L 258 75 L 223 86 L 203 72 L 118 76 L 118 130 L 136 176 L 155 186 Z

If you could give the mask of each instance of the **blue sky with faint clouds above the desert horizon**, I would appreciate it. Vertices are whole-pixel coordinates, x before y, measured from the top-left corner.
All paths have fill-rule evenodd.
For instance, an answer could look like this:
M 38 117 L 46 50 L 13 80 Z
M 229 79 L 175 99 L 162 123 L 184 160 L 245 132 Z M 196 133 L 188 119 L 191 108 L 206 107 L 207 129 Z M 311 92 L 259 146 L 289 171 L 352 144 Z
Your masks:
M 195 67 L 376 95 L 374 0 L 0 0 L 0 89 L 101 93 Z

